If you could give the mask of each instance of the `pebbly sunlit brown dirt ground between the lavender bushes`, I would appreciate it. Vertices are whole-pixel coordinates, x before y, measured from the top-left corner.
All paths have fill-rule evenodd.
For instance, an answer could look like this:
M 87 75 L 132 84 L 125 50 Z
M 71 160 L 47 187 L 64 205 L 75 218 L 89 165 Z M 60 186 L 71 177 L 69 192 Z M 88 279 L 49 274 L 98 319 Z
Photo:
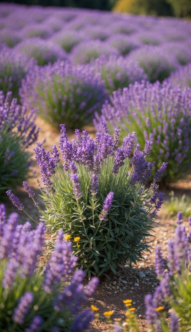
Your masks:
M 44 142 L 43 146 L 45 150 L 50 150 L 50 146 L 56 144 L 59 145 L 59 131 L 53 129 L 49 124 L 45 124 L 43 120 L 37 118 L 36 124 L 41 127 L 39 133 L 39 142 Z M 91 137 L 95 138 L 95 132 L 93 127 L 87 128 Z M 75 137 L 74 133 L 71 131 L 68 132 L 69 139 Z M 32 190 L 36 193 L 36 201 L 40 202 L 38 194 L 40 193 L 37 186 L 36 178 L 40 180 L 39 169 L 36 167 L 36 162 L 34 158 L 34 151 L 36 145 L 30 147 L 33 156 L 32 156 L 32 169 L 36 174 L 33 178 L 29 179 L 28 184 L 31 186 Z M 172 184 L 170 188 L 161 189 L 162 192 L 165 192 L 165 199 L 168 200 L 168 193 L 173 190 L 175 196 L 182 196 L 186 194 L 191 197 L 191 176 L 187 179 L 178 181 L 176 184 Z M 34 207 L 32 200 L 28 197 L 22 186 L 18 188 L 17 196 L 20 198 L 22 204 L 25 205 L 26 212 L 32 216 L 36 221 L 39 221 L 38 209 Z M 17 209 L 10 203 L 6 202 L 7 211 L 10 213 L 12 211 L 17 211 Z M 26 222 L 30 220 L 23 211 L 17 211 L 20 215 L 20 222 Z M 144 297 L 148 293 L 153 293 L 156 286 L 158 285 L 158 280 L 156 279 L 155 269 L 154 269 L 154 259 L 155 259 L 155 248 L 157 245 L 161 245 L 163 249 L 164 256 L 167 254 L 166 244 L 169 238 L 173 237 L 174 225 L 176 220 L 169 218 L 165 215 L 164 209 L 162 208 L 159 214 L 156 217 L 157 224 L 155 225 L 153 235 L 148 238 L 148 242 L 151 246 L 151 253 L 148 251 L 145 252 L 144 258 L 145 261 L 139 262 L 137 266 L 133 266 L 130 269 L 128 266 L 120 267 L 117 275 L 111 275 L 110 281 L 105 277 L 100 278 L 99 286 L 94 294 L 94 298 L 87 305 L 90 308 L 90 305 L 93 303 L 99 308 L 99 319 L 97 322 L 92 323 L 92 328 L 89 331 L 112 331 L 112 328 L 109 324 L 106 323 L 105 318 L 102 316 L 104 311 L 113 310 L 112 320 L 117 320 L 119 317 L 124 317 L 125 307 L 123 304 L 124 299 L 132 299 L 133 306 L 137 309 L 137 316 L 140 323 L 140 331 L 148 331 L 145 319 L 144 319 Z M 35 224 L 33 224 L 35 226 Z M 188 222 L 186 220 L 186 225 Z M 46 257 L 44 257 L 46 260 Z M 43 261 L 43 258 L 42 258 Z

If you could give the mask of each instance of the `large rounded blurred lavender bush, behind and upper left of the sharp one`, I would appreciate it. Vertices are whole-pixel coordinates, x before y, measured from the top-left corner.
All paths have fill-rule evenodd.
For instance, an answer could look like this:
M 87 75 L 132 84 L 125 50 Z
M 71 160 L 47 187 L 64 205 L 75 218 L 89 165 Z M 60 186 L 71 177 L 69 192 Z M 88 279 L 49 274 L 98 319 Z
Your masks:
M 89 123 L 95 110 L 108 98 L 100 74 L 90 66 L 68 62 L 33 68 L 22 82 L 22 100 L 54 126 L 63 120 L 70 128 Z

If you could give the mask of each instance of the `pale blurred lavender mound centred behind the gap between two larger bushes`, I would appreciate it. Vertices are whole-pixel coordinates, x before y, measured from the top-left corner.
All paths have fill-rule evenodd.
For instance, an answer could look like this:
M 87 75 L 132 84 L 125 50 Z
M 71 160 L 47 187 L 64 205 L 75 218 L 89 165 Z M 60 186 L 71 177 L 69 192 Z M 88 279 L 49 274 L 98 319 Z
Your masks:
M 101 55 L 118 55 L 119 51 L 105 41 L 82 41 L 71 52 L 71 61 L 75 64 L 89 63 Z

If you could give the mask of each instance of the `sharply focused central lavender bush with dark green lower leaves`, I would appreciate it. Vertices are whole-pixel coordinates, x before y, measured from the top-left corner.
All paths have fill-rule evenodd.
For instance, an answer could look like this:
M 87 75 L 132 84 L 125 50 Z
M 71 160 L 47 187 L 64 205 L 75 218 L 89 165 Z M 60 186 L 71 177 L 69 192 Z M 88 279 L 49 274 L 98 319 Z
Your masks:
M 121 148 L 119 130 L 115 130 L 112 139 L 105 123 L 96 140 L 86 130 L 84 136 L 78 129 L 75 133 L 72 144 L 61 124 L 59 148 L 64 168 L 57 166 L 60 159 L 55 145 L 50 157 L 37 144 L 35 158 L 45 186 L 41 191 L 45 209 L 40 212 L 48 231 L 56 233 L 62 229 L 76 239 L 73 250 L 78 265 L 89 278 L 91 273 L 99 277 L 108 270 L 115 274 L 118 264 L 131 266 L 142 259 L 142 251 L 148 248 L 146 237 L 163 201 L 156 182 L 160 181 L 165 164 L 146 189 L 154 164 L 145 160 L 150 154 L 150 142 L 143 152 L 135 145 L 130 162 L 135 132 L 124 137 Z M 12 195 L 9 196 L 13 204 L 20 207 Z

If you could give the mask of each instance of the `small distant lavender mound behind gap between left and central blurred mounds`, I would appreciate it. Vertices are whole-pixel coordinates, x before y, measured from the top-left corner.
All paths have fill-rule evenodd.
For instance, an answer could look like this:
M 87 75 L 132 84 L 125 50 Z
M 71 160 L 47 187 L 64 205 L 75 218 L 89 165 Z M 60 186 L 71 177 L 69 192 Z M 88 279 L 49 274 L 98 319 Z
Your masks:
M 64 29 L 57 34 L 54 34 L 51 40 L 69 53 L 74 46 L 84 39 L 87 39 L 87 37 L 82 32 Z

